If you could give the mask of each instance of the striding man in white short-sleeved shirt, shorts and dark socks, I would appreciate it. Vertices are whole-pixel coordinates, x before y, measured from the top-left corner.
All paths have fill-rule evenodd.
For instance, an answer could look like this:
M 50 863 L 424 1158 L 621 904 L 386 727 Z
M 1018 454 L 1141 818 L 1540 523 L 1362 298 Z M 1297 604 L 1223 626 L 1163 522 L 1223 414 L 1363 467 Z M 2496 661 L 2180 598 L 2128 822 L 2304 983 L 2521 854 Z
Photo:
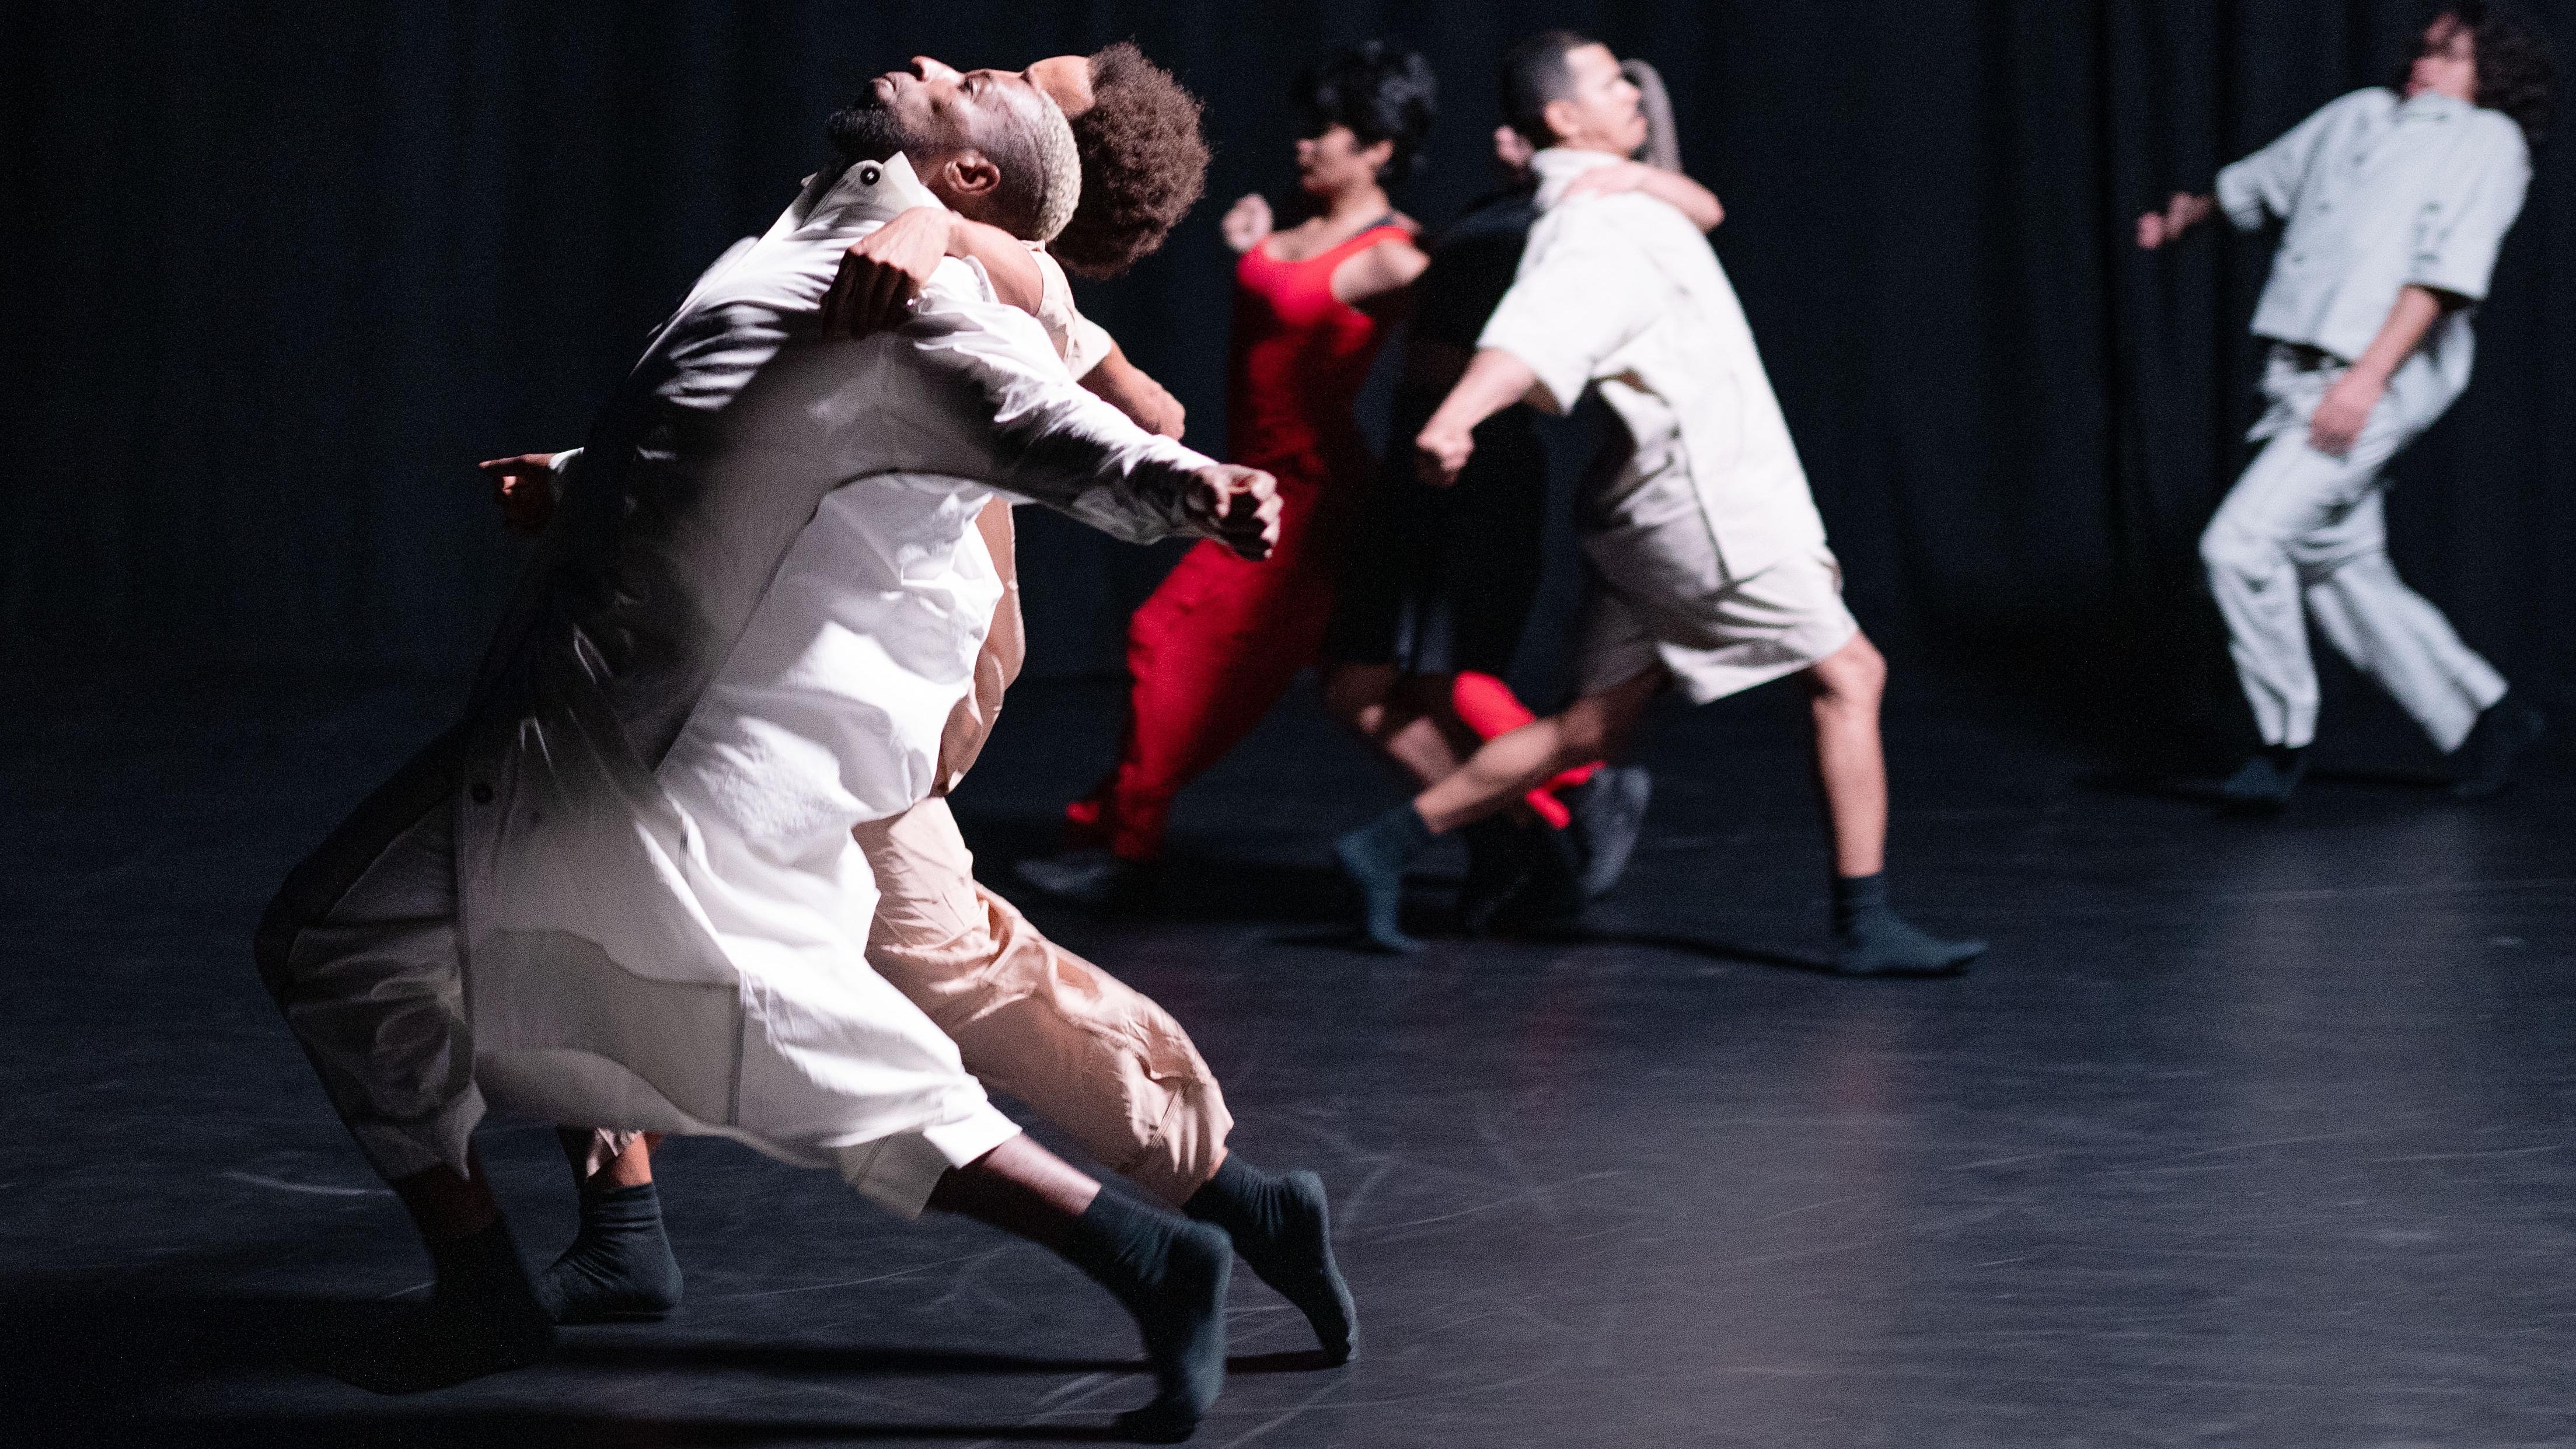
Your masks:
M 1476 425 L 1504 407 L 1564 412 L 1592 389 L 1610 404 L 1623 440 L 1579 504 L 1592 566 L 1582 697 L 1334 842 L 1365 937 L 1419 950 L 1399 924 L 1412 857 L 1571 764 L 1615 757 L 1662 690 L 1705 705 L 1798 674 L 1832 834 L 1834 965 L 1963 970 L 1984 942 L 1929 937 L 1888 903 L 1886 661 L 1842 605 L 1842 569 L 1736 293 L 1669 201 L 1574 190 L 1584 172 L 1631 165 L 1646 142 L 1636 82 L 1607 46 L 1546 31 L 1512 46 L 1502 88 L 1504 116 L 1540 147 L 1530 157 L 1540 219 L 1473 360 L 1414 445 L 1425 479 L 1455 484 Z

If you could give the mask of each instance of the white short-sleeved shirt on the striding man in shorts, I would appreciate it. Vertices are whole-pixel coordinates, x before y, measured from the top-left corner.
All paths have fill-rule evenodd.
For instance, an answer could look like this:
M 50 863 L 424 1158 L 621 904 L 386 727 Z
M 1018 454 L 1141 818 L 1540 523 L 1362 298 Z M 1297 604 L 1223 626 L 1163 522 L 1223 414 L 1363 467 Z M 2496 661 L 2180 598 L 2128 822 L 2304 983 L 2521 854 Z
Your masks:
M 1700 229 L 1636 190 L 1566 201 L 1577 175 L 1618 160 L 1556 147 L 1530 160 L 1540 216 L 1476 345 L 1528 363 L 1558 409 L 1600 386 L 1638 458 L 1677 443 L 1728 577 L 1747 579 L 1821 546 L 1824 520 Z

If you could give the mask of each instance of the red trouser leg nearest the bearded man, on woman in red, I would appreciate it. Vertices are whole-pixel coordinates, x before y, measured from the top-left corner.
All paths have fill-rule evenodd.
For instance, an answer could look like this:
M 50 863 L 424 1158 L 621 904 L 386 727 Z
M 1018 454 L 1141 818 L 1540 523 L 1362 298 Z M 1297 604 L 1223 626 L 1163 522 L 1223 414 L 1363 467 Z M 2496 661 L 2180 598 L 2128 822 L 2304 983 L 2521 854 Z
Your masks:
M 1162 854 L 1172 795 L 1242 744 L 1314 664 L 1332 584 L 1296 558 L 1247 564 L 1200 543 L 1128 620 L 1128 726 L 1074 826 L 1123 860 Z M 1087 818 L 1090 816 L 1090 818 Z

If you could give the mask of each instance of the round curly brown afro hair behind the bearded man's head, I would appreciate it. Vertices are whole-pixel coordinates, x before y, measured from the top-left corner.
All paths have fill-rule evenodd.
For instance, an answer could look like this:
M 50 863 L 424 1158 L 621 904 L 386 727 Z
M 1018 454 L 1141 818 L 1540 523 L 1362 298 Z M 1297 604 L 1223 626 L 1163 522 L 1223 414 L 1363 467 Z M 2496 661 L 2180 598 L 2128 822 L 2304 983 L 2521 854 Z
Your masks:
M 1092 57 L 1092 108 L 1072 124 L 1082 203 L 1046 250 L 1074 275 L 1118 275 L 1162 247 L 1208 188 L 1198 98 L 1121 41 Z

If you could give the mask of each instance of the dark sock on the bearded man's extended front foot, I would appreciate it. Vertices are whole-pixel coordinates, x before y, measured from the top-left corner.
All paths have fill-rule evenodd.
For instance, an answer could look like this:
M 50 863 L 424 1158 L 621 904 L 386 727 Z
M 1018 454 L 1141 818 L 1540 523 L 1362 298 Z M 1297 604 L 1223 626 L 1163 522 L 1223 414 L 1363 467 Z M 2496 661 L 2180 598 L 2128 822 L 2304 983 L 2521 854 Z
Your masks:
M 1064 1256 L 1136 1315 L 1154 1361 L 1154 1403 L 1118 1416 L 1144 1439 L 1188 1439 L 1226 1387 L 1226 1284 L 1234 1246 L 1216 1228 L 1100 1189 Z

